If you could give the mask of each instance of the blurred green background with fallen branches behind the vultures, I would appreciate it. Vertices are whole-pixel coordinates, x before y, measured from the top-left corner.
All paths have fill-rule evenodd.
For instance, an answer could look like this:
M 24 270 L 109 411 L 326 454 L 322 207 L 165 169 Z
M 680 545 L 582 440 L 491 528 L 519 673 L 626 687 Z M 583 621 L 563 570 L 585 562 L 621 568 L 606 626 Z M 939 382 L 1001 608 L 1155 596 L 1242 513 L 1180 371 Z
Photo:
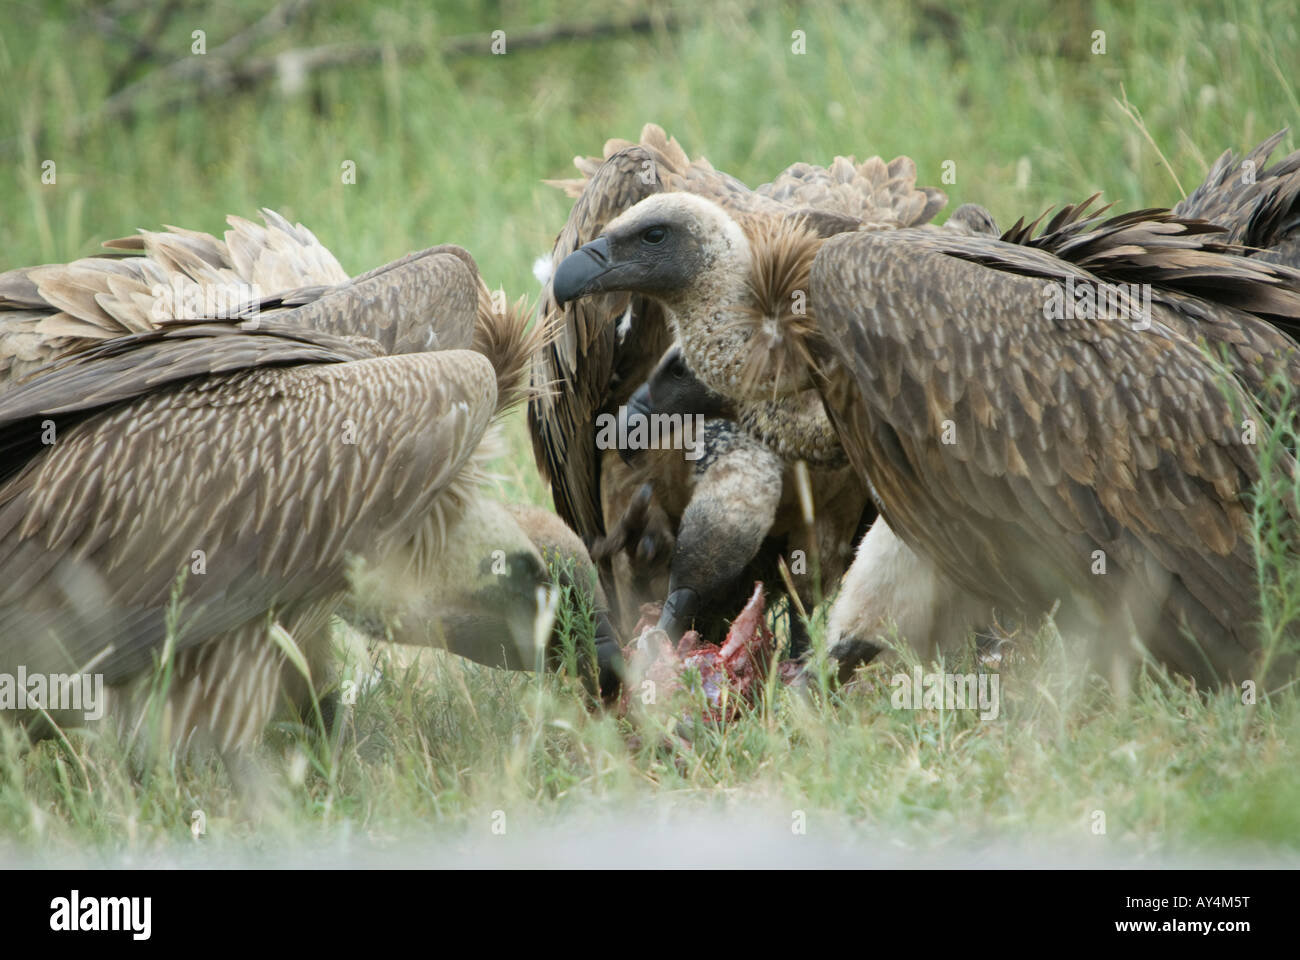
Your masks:
M 1095 190 L 1173 204 L 1222 150 L 1300 117 L 1291 0 L 0 9 L 5 268 L 268 206 L 351 272 L 455 242 L 517 294 L 568 209 L 540 181 L 647 120 L 754 186 L 794 160 L 906 153 L 949 211 L 979 202 L 1006 226 Z

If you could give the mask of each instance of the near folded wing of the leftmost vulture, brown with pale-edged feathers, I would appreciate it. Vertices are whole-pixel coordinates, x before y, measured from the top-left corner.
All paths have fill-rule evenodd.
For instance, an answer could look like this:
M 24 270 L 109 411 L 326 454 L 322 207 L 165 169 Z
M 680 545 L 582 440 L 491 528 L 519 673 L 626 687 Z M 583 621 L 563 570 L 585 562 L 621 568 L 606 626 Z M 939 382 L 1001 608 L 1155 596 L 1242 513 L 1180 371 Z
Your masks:
M 352 554 L 410 539 L 495 408 L 480 354 L 263 368 L 81 423 L 0 488 L 0 665 L 109 683 L 178 648 L 343 589 Z

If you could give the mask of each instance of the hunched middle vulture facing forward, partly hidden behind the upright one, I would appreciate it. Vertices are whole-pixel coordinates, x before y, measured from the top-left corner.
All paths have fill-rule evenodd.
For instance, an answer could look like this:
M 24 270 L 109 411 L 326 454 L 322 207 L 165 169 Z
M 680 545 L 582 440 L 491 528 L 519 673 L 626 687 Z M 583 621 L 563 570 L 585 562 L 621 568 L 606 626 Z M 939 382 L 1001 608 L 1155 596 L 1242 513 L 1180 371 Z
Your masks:
M 638 143 L 614 139 L 603 153 L 575 160 L 580 180 L 554 182 L 575 204 L 551 264 L 592 250 L 611 221 L 651 196 L 707 198 L 758 222 L 797 215 L 824 235 L 915 226 L 946 202 L 939 190 L 916 187 L 915 165 L 907 157 L 888 164 L 879 157 L 862 164 L 836 157 L 829 168 L 797 163 L 751 190 L 703 159 L 692 161 L 653 124 Z M 978 208 L 957 220 L 967 230 L 982 229 Z M 753 278 L 755 308 L 797 310 L 811 261 L 771 263 L 771 273 Z M 819 579 L 827 584 L 840 579 L 858 533 L 875 516 L 842 447 L 832 444 L 790 457 L 786 438 L 767 431 L 757 406 L 719 412 L 707 402 L 696 411 L 670 403 L 640 412 L 706 416 L 703 455 L 688 459 L 680 449 L 651 450 L 625 463 L 619 450 L 598 442 L 598 423 L 627 412 L 651 375 L 681 356 L 673 353 L 659 291 L 611 285 L 590 298 L 566 300 L 555 295 L 552 278 L 541 311 L 556 317 L 558 332 L 538 351 L 533 369 L 534 385 L 551 388 L 529 403 L 537 463 L 556 511 L 599 559 L 624 630 L 637 620 L 642 602 L 666 601 L 660 626 L 671 635 L 689 626 L 706 636 L 716 633 L 722 614 L 740 609 L 754 579 L 783 583 L 777 576 L 783 558 L 790 561 L 798 600 L 807 606 L 819 598 Z M 832 436 L 811 385 L 800 403 L 811 421 L 820 420 L 816 432 Z M 794 618 L 792 626 L 801 633 Z M 800 637 L 793 640 L 797 652 Z

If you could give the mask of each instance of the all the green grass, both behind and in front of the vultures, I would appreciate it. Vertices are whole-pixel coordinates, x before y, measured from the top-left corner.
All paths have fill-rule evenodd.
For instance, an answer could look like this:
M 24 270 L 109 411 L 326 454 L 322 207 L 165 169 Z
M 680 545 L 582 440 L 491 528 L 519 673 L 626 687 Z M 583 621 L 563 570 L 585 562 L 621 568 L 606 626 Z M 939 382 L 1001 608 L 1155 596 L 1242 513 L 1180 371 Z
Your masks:
M 720 4 L 677 31 L 512 52 L 512 31 L 610 10 L 320 3 L 266 49 L 365 42 L 394 55 L 320 74 L 294 96 L 255 91 L 162 114 L 146 99 L 129 124 L 74 134 L 69 120 L 95 113 L 125 48 L 84 4 L 9 4 L 0 268 L 86 255 L 136 226 L 216 230 L 228 212 L 269 206 L 352 272 L 458 242 L 490 282 L 529 291 L 530 264 L 568 206 L 538 181 L 569 176 L 573 153 L 634 138 L 646 120 L 755 185 L 837 152 L 907 153 L 933 185 L 953 161 L 949 209 L 979 202 L 1002 225 L 1096 190 L 1121 207 L 1171 204 L 1223 148 L 1300 121 L 1287 0 L 998 7 Z M 190 7 L 155 43 L 181 56 L 203 29 L 213 49 L 252 8 Z M 504 56 L 395 52 L 497 29 Z M 1095 30 L 1104 55 L 1091 52 Z M 47 160 L 53 185 L 40 180 Z M 347 160 L 355 185 L 341 182 Z M 517 420 L 511 441 L 506 496 L 546 502 Z M 1144 683 L 1117 701 L 1078 679 L 1050 636 L 1004 671 L 996 719 L 892 709 L 878 669 L 831 697 L 777 691 L 738 722 L 698 731 L 692 748 L 663 745 L 653 727 L 633 740 L 627 723 L 589 714 L 563 678 L 387 653 L 374 675 L 337 743 L 268 734 L 252 810 L 217 761 L 140 771 L 96 735 L 26 752 L 0 726 L 0 851 L 146 857 L 187 843 L 195 810 L 205 849 L 233 855 L 339 836 L 394 852 L 413 835 L 490 843 L 502 822 L 517 836 L 597 810 L 744 813 L 774 843 L 800 835 L 802 812 L 809 836 L 848 831 L 910 851 L 1001 838 L 1102 856 L 1251 857 L 1300 843 L 1294 696 L 1245 708 L 1231 692 Z

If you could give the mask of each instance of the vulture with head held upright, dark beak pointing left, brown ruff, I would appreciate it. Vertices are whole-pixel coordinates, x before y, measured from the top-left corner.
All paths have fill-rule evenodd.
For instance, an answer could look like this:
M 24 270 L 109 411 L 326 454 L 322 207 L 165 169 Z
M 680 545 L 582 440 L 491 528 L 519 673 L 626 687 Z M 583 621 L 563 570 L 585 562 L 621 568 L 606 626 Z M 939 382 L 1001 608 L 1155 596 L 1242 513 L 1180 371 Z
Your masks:
M 1291 164 L 1269 190 L 1290 189 Z M 1225 206 L 1264 213 L 1234 241 L 1088 200 L 994 237 L 982 217 L 835 230 L 658 193 L 566 256 L 551 293 L 651 300 L 738 421 L 786 459 L 842 451 L 890 535 L 980 609 L 1057 610 L 1112 669 L 1282 676 L 1295 658 L 1261 650 L 1252 505 L 1294 481 L 1294 451 L 1261 458 L 1252 425 L 1266 437 L 1300 382 L 1300 273 L 1245 243 L 1294 213 Z M 806 277 L 803 312 L 764 308 L 758 278 L 783 271 Z M 1283 500 L 1294 549 L 1300 507 Z M 885 584 L 898 558 L 883 536 L 859 552 Z M 837 656 L 874 652 L 855 640 Z

